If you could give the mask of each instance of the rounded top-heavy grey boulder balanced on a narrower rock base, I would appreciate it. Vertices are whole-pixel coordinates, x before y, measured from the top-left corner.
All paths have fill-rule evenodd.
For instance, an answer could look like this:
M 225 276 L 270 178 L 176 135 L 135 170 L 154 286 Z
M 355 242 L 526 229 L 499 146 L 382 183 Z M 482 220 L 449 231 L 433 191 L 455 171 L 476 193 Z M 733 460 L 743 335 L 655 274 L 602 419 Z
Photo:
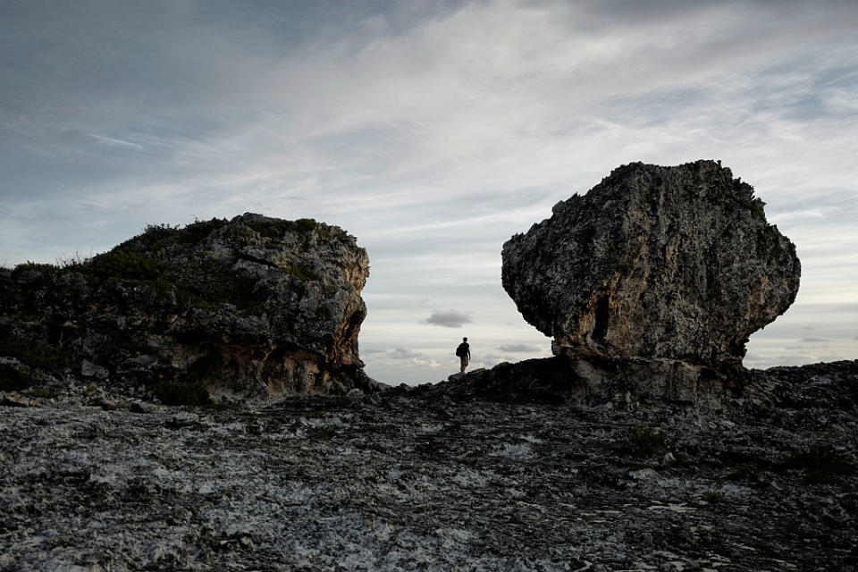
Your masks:
M 555 352 L 740 365 L 798 291 L 795 246 L 713 161 L 627 164 L 503 245 L 503 287 Z

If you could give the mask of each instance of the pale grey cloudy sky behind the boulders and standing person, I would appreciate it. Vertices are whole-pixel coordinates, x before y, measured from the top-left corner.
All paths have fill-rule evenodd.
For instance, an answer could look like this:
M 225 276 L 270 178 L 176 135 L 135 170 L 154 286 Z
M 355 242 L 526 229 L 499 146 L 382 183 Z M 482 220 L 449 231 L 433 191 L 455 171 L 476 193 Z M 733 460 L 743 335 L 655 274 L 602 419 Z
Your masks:
M 720 159 L 798 248 L 747 366 L 858 357 L 855 2 L 0 3 L 0 265 L 313 217 L 370 256 L 367 371 L 550 354 L 501 245 L 632 161 Z

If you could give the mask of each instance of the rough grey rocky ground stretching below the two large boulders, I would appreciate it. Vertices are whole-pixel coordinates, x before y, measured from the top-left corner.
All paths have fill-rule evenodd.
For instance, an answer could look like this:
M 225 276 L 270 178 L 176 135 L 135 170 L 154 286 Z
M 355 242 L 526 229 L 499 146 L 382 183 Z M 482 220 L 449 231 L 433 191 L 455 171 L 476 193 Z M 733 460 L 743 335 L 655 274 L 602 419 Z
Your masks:
M 0 570 L 854 569 L 858 362 L 770 372 L 718 413 L 3 394 Z

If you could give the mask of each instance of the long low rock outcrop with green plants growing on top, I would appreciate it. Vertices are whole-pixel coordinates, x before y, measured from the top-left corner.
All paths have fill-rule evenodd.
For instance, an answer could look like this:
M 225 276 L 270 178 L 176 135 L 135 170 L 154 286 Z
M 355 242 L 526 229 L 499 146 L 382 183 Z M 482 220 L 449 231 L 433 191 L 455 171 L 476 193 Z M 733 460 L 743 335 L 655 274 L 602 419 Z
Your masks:
M 86 262 L 0 273 L 0 356 L 173 401 L 366 390 L 368 273 L 354 237 L 310 219 L 150 226 Z

